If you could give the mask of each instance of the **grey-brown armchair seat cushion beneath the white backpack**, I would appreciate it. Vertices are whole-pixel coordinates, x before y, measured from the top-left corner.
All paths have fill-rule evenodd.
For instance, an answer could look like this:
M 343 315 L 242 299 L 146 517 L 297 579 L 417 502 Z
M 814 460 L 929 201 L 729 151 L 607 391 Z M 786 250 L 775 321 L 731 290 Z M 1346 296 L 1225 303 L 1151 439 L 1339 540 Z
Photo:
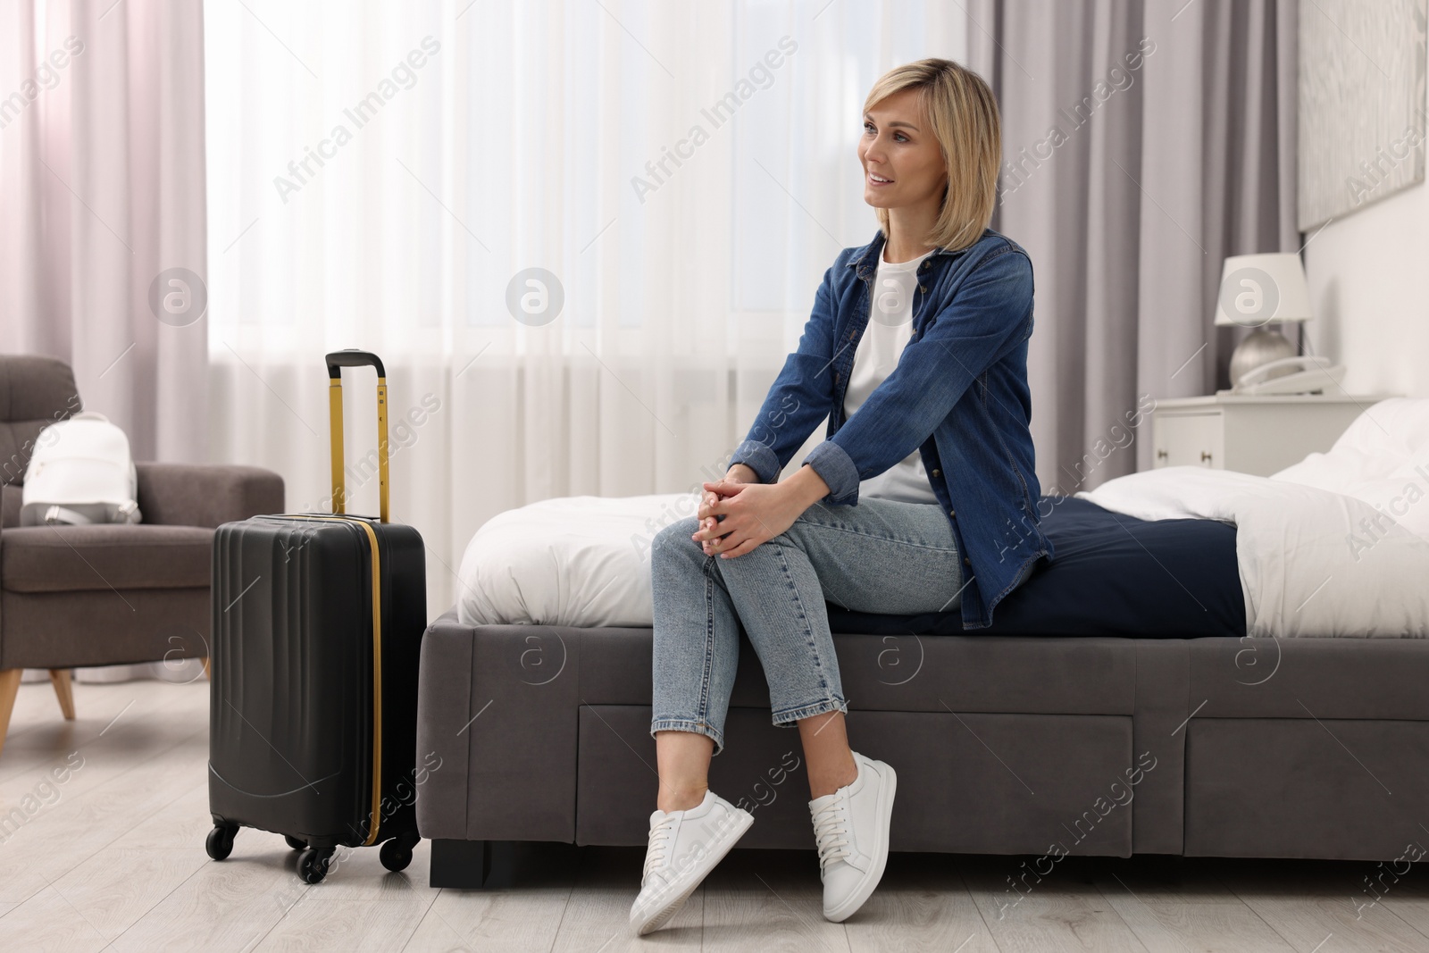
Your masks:
M 213 530 L 147 523 L 26 526 L 0 533 L 0 580 L 14 593 L 209 587 Z

